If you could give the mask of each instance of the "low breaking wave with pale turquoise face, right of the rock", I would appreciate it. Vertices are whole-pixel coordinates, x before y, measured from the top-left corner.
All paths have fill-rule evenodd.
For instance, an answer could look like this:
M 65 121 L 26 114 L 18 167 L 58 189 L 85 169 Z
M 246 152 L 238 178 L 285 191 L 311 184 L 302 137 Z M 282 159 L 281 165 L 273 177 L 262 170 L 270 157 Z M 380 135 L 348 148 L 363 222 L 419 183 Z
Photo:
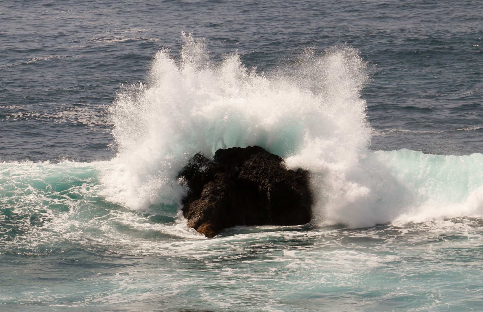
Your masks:
M 376 151 L 367 153 L 346 178 L 365 189 L 329 197 L 327 223 L 366 227 L 483 214 L 482 154 Z

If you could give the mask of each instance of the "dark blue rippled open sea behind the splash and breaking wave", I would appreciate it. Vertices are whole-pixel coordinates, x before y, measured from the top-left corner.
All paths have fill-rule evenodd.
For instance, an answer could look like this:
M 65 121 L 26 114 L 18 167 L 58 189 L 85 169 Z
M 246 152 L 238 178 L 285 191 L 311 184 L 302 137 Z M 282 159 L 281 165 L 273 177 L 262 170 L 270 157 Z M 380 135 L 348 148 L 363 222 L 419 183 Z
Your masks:
M 0 159 L 105 160 L 106 106 L 181 31 L 270 73 L 300 49 L 369 62 L 373 149 L 482 151 L 481 1 L 9 1 L 1 4 Z

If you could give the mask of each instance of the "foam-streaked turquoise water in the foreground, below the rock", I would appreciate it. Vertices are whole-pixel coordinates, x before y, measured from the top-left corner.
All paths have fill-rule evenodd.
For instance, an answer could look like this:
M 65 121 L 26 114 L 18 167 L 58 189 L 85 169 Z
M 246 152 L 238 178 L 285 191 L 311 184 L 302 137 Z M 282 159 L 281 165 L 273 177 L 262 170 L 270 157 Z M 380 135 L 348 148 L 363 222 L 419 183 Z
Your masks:
M 27 279 L 3 284 L 2 299 L 12 311 L 479 310 L 480 228 L 458 219 L 159 242 L 156 230 L 126 227 L 118 239 L 17 249 L 4 257 L 12 272 L 3 276 L 21 265 Z

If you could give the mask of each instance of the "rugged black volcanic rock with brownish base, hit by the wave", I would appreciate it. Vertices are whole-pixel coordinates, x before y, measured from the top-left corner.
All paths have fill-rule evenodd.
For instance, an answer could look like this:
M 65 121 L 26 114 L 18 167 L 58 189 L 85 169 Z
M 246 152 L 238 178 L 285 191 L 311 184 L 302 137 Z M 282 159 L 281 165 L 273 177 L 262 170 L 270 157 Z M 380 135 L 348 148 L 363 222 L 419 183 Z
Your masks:
M 207 237 L 237 225 L 298 225 L 311 219 L 308 172 L 259 146 L 193 156 L 179 172 L 188 186 L 183 213 Z

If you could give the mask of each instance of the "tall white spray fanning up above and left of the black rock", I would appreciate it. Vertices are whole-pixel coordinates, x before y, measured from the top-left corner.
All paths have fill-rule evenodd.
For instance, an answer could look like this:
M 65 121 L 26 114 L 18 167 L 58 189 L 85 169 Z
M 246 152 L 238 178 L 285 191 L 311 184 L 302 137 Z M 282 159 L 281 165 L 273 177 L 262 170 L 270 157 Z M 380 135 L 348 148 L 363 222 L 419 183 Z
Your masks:
M 344 168 L 370 136 L 355 50 L 306 55 L 292 75 L 269 78 L 238 54 L 213 65 L 203 42 L 185 40 L 180 62 L 158 52 L 147 86 L 121 93 L 112 107 L 119 154 L 103 179 L 110 200 L 133 209 L 179 202 L 185 190 L 174 177 L 189 157 L 233 146 L 262 146 L 344 184 Z

